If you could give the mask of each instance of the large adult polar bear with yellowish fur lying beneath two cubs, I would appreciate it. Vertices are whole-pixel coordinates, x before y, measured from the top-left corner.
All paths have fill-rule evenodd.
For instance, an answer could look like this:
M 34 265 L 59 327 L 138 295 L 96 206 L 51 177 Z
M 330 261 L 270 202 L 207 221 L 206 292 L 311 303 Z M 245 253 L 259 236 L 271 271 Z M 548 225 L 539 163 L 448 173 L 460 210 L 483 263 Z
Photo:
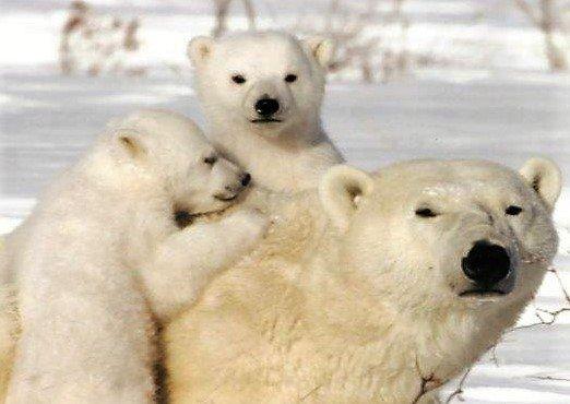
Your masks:
M 497 343 L 557 249 L 560 171 L 333 167 L 166 331 L 174 403 L 430 403 Z

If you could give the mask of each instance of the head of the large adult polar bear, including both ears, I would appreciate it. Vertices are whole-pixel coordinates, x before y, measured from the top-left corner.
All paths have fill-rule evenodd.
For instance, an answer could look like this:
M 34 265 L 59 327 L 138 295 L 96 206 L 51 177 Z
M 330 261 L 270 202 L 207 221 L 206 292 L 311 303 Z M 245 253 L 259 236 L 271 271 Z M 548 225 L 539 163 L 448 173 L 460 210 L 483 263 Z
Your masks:
M 409 162 L 377 176 L 335 167 L 320 193 L 348 271 L 375 293 L 407 309 L 487 307 L 536 292 L 557 249 L 560 186 L 559 169 L 539 158 L 520 173 L 487 162 Z

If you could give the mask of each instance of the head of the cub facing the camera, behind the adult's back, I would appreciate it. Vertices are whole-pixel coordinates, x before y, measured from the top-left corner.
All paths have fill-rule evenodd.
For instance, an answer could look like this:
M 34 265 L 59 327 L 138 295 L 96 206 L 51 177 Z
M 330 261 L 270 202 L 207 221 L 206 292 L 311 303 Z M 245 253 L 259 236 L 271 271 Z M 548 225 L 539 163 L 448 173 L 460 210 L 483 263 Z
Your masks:
M 332 43 L 276 33 L 195 37 L 188 55 L 199 98 L 214 121 L 274 136 L 320 116 Z

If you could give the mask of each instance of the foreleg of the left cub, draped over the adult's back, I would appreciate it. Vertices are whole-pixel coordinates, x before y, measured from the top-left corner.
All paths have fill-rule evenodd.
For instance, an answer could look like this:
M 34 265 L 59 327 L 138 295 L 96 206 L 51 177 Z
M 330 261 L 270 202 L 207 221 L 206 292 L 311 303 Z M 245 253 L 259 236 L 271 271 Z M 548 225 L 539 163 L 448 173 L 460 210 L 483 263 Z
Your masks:
M 170 235 L 141 271 L 155 316 L 166 320 L 193 302 L 214 274 L 261 239 L 266 226 L 260 213 L 239 211 Z

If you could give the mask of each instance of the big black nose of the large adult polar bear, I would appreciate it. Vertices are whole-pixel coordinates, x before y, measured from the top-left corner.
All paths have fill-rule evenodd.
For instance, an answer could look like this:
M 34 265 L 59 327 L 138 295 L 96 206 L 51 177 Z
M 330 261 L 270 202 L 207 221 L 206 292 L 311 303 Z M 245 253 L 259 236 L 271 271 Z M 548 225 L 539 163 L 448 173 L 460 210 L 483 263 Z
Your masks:
M 461 266 L 465 276 L 483 286 L 492 286 L 504 280 L 511 271 L 511 259 L 504 247 L 478 240 Z

